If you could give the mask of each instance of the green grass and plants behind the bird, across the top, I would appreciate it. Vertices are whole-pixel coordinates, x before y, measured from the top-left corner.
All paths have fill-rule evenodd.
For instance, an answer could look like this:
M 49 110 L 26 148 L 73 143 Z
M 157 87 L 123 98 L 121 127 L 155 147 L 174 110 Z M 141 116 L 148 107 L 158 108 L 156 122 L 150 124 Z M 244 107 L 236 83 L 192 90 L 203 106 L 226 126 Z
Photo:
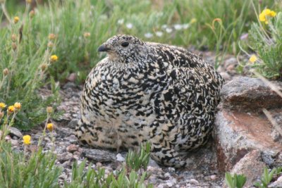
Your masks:
M 265 45 L 269 41 L 259 38 L 260 29 L 252 24 L 257 23 L 254 8 L 259 12 L 264 7 L 279 10 L 279 1 L 17 2 L 1 0 L 0 101 L 23 104 L 16 120 L 21 129 L 42 122 L 46 118 L 44 108 L 59 104 L 58 81 L 66 82 L 75 73 L 75 82 L 84 82 L 90 68 L 103 58 L 97 47 L 116 34 L 185 47 L 207 47 L 219 54 L 217 68 L 226 52 L 238 53 L 240 37 L 252 25 L 252 49 L 264 61 L 256 64 L 257 68 L 268 77 L 281 74 L 281 15 L 264 25 L 274 27 L 266 28 L 275 39 L 271 50 Z M 58 57 L 56 62 L 50 60 L 52 55 Z M 51 93 L 42 97 L 38 93 L 44 85 L 49 86 Z

